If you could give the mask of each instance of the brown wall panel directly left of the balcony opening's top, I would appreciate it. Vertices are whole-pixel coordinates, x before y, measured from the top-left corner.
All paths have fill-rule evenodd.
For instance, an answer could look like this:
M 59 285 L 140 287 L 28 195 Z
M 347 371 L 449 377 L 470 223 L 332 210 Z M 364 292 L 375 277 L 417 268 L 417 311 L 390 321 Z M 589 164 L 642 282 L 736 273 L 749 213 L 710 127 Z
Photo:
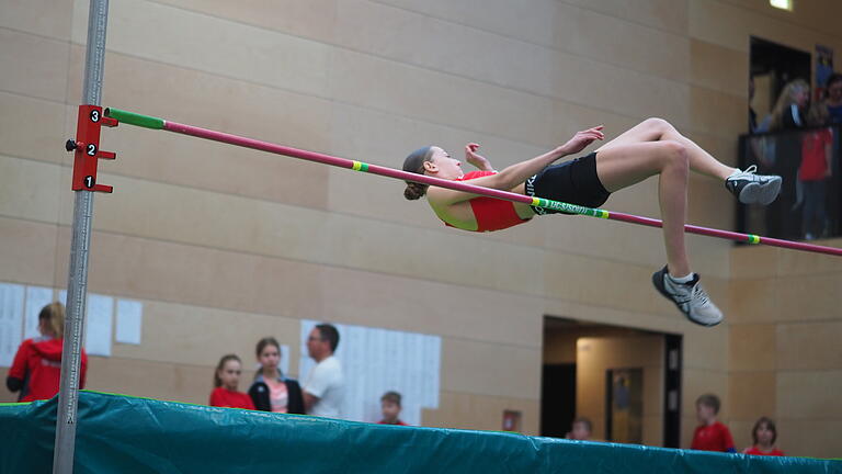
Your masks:
M 749 55 L 744 50 L 692 40 L 690 42 L 690 82 L 694 86 L 749 95 Z M 748 112 L 748 111 L 747 111 Z

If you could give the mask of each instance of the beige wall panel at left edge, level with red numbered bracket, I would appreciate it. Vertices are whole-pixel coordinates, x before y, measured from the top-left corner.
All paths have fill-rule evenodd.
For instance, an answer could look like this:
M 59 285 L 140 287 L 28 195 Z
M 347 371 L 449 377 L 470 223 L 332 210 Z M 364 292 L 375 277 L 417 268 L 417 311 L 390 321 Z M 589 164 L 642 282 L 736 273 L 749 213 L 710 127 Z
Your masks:
M 0 92 L 0 154 L 53 162 L 70 155 L 60 147 L 65 134 L 64 105 Z

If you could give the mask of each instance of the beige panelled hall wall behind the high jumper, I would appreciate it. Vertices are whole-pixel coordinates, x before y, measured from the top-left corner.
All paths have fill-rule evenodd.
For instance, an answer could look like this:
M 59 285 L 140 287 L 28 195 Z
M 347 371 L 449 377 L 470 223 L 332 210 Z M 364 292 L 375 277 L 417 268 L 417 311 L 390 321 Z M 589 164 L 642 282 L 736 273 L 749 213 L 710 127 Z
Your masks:
M 582 127 L 613 137 L 658 115 L 732 163 L 749 35 L 842 50 L 840 7 L 815 3 L 786 14 L 750 0 L 113 0 L 103 103 L 392 167 L 421 145 L 471 140 L 503 167 Z M 88 2 L 0 0 L 0 280 L 61 287 L 72 194 L 60 147 Z M 428 425 L 494 429 L 512 408 L 535 433 L 545 314 L 684 335 L 685 435 L 697 392 L 722 395 L 730 416 L 742 390 L 729 376 L 755 370 L 731 326 L 690 327 L 651 290 L 664 258 L 653 229 L 548 217 L 473 236 L 402 200 L 398 182 L 130 127 L 106 131 L 102 147 L 118 158 L 100 168 L 115 193 L 95 200 L 90 290 L 144 301 L 148 334 L 94 358 L 93 388 L 202 402 L 219 354 L 249 359 L 265 334 L 296 348 L 303 318 L 442 336 L 442 405 Z M 607 207 L 656 216 L 656 189 Z M 730 227 L 720 183 L 694 177 L 690 202 L 691 222 Z M 832 307 L 839 279 L 815 266 L 772 290 L 762 275 L 730 285 L 738 252 L 699 237 L 690 247 L 738 337 L 737 325 L 774 325 L 763 343 L 800 347 L 812 332 L 756 309 Z M 838 330 L 818 319 L 822 337 Z M 817 351 L 809 360 L 835 360 Z M 778 410 L 788 387 L 839 370 L 785 366 L 808 379 L 776 375 Z M 821 393 L 804 400 L 824 407 Z M 803 445 L 782 439 L 818 454 L 830 425 L 780 415 L 793 430 L 815 424 Z

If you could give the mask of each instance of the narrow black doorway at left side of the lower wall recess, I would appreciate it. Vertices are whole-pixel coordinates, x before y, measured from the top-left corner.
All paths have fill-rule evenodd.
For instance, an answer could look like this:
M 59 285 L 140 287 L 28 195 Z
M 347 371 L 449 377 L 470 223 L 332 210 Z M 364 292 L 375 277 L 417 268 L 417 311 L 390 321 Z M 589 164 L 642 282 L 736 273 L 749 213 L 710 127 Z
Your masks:
M 576 417 L 576 364 L 545 364 L 541 387 L 541 436 L 564 438 Z

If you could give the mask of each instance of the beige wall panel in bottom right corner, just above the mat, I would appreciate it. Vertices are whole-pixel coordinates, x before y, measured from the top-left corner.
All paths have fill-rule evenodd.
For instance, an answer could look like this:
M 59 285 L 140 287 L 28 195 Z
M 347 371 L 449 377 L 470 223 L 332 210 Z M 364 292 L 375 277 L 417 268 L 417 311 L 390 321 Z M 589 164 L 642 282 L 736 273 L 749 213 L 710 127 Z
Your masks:
M 838 458 L 840 419 L 775 420 L 778 432 L 777 445 L 786 455 L 811 458 Z M 805 436 L 809 433 L 809 436 Z

